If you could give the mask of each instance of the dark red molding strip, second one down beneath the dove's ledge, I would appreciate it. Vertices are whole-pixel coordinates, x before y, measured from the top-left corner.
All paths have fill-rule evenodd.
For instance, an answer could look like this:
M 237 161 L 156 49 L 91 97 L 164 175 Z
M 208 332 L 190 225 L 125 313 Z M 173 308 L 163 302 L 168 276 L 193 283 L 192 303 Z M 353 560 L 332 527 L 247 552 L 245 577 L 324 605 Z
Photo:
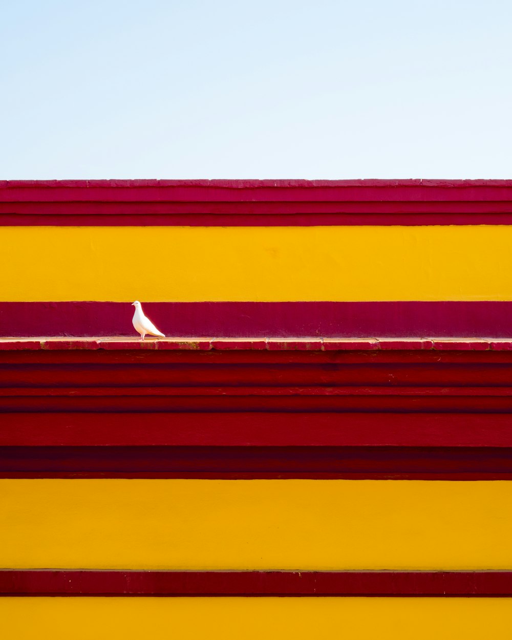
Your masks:
M 48 364 L 0 364 L 0 387 L 495 387 L 512 385 L 512 366 L 504 362 L 407 362 L 381 363 L 269 363 L 233 362 L 165 364 L 145 362 L 96 364 L 48 362 Z M 392 393 L 392 391 L 390 391 Z

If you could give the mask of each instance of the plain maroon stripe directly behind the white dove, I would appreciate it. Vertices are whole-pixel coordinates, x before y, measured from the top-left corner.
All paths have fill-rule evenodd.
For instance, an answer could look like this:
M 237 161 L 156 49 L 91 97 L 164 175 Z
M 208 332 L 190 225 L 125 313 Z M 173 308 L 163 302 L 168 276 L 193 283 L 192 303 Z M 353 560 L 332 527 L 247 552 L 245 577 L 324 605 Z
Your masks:
M 126 336 L 122 342 L 72 344 L 71 348 L 224 348 L 221 337 L 266 339 L 310 336 L 306 344 L 284 344 L 296 349 L 346 348 L 468 348 L 457 338 L 487 337 L 491 348 L 508 348 L 500 339 L 512 338 L 512 301 L 441 302 L 188 302 L 146 303 L 145 313 L 167 342 L 145 340 L 141 345 L 132 327 L 132 307 L 115 302 L 0 302 L 0 336 Z M 175 337 L 179 336 L 179 337 Z M 185 338 L 188 336 L 188 338 Z M 195 336 L 195 337 L 190 337 Z M 431 338 L 430 343 L 410 341 Z M 211 344 L 212 337 L 220 337 Z M 317 344 L 314 344 L 316 337 Z M 353 344 L 381 338 L 379 343 Z M 406 339 L 389 344 L 383 337 Z M 454 338 L 455 337 L 455 338 Z M 439 339 L 450 338 L 452 344 Z M 224 338 L 225 341 L 226 338 Z M 326 339 L 349 339 L 352 344 L 326 344 Z M 192 344 L 190 344 L 192 343 Z M 220 343 L 220 344 L 219 344 Z M 225 344 L 225 342 L 224 342 Z M 484 343 L 483 343 L 484 344 Z M 157 346 L 156 346 L 157 345 Z M 51 348 L 51 344 L 47 342 Z M 234 345 L 241 346 L 241 345 Z M 243 345 L 242 345 L 243 346 Z M 36 345 L 20 345 L 19 348 Z M 57 347 L 57 346 L 56 346 Z M 226 345 L 229 348 L 229 345 Z M 3 344 L 0 342 L 0 348 Z M 265 344 L 251 348 L 266 348 Z

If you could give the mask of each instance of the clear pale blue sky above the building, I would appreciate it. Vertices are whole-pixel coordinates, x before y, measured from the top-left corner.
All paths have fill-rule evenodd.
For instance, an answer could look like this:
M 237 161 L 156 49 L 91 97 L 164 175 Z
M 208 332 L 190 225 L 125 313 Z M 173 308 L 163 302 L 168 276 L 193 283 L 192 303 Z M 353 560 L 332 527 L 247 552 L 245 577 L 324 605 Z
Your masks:
M 510 0 L 0 7 L 0 179 L 512 178 Z

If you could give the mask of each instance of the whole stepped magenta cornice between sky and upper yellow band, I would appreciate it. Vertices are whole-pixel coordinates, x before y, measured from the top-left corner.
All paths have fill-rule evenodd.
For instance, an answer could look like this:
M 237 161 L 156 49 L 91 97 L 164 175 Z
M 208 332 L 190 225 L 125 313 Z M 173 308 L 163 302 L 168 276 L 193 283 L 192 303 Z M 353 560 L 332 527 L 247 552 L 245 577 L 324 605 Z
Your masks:
M 509 224 L 510 180 L 0 182 L 4 225 Z

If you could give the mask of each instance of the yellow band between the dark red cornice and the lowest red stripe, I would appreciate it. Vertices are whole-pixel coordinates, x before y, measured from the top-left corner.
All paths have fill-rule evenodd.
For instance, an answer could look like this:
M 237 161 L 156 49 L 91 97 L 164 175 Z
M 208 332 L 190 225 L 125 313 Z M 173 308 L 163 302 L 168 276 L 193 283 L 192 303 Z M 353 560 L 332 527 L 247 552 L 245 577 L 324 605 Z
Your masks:
M 512 481 L 2 479 L 0 566 L 510 570 L 511 504 Z

